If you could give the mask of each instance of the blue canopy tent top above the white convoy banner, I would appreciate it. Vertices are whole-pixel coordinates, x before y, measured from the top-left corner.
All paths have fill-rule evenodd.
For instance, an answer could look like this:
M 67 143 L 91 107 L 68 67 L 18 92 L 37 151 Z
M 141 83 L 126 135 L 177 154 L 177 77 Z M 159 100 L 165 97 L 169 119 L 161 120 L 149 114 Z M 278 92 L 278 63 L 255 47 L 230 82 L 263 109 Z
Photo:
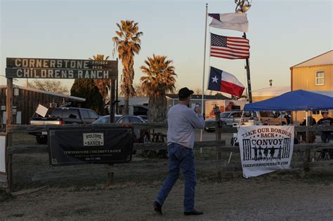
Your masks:
M 244 106 L 244 111 L 307 111 L 333 109 L 333 98 L 309 91 L 297 90 L 278 97 Z

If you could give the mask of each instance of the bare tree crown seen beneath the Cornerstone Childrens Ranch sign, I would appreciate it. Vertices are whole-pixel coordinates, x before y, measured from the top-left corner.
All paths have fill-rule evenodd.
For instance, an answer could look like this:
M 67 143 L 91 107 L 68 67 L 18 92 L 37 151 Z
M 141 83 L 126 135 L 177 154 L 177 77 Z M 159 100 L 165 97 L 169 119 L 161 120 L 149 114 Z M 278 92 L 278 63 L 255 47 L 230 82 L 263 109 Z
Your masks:
M 34 80 L 29 83 L 29 87 L 52 93 L 69 94 L 70 92 L 66 86 L 63 86 L 61 81 Z

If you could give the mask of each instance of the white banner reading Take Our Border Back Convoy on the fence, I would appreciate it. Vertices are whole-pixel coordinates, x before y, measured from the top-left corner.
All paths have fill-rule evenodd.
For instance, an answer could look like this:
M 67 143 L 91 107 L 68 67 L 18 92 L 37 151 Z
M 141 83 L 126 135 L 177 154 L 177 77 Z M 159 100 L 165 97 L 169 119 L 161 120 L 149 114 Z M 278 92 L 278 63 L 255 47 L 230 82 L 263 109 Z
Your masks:
M 294 126 L 243 126 L 237 138 L 244 178 L 289 168 Z

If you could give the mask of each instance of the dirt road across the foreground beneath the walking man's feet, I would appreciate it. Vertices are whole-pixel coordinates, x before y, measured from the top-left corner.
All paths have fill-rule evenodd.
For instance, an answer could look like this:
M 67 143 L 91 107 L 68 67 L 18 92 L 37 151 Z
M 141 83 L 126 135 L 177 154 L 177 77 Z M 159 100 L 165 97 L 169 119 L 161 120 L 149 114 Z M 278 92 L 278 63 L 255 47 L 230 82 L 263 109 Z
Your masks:
M 22 220 L 332 220 L 332 184 L 281 180 L 198 182 L 200 217 L 182 212 L 183 182 L 164 204 L 152 210 L 161 182 L 111 188 L 51 188 L 0 203 L 0 219 Z

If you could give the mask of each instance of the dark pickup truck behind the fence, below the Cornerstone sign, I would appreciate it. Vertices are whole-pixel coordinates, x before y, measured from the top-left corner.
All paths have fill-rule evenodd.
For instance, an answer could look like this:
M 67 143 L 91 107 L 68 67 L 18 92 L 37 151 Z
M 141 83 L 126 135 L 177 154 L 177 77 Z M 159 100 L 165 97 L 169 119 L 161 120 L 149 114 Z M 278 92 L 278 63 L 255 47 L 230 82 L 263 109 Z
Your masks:
M 30 118 L 30 125 L 44 126 L 44 125 L 64 125 L 76 123 L 92 123 L 96 121 L 99 116 L 91 109 L 77 108 L 77 107 L 58 107 L 53 109 L 48 117 L 35 117 Z M 36 136 L 36 141 L 39 144 L 47 142 L 47 132 L 30 132 L 30 135 Z

